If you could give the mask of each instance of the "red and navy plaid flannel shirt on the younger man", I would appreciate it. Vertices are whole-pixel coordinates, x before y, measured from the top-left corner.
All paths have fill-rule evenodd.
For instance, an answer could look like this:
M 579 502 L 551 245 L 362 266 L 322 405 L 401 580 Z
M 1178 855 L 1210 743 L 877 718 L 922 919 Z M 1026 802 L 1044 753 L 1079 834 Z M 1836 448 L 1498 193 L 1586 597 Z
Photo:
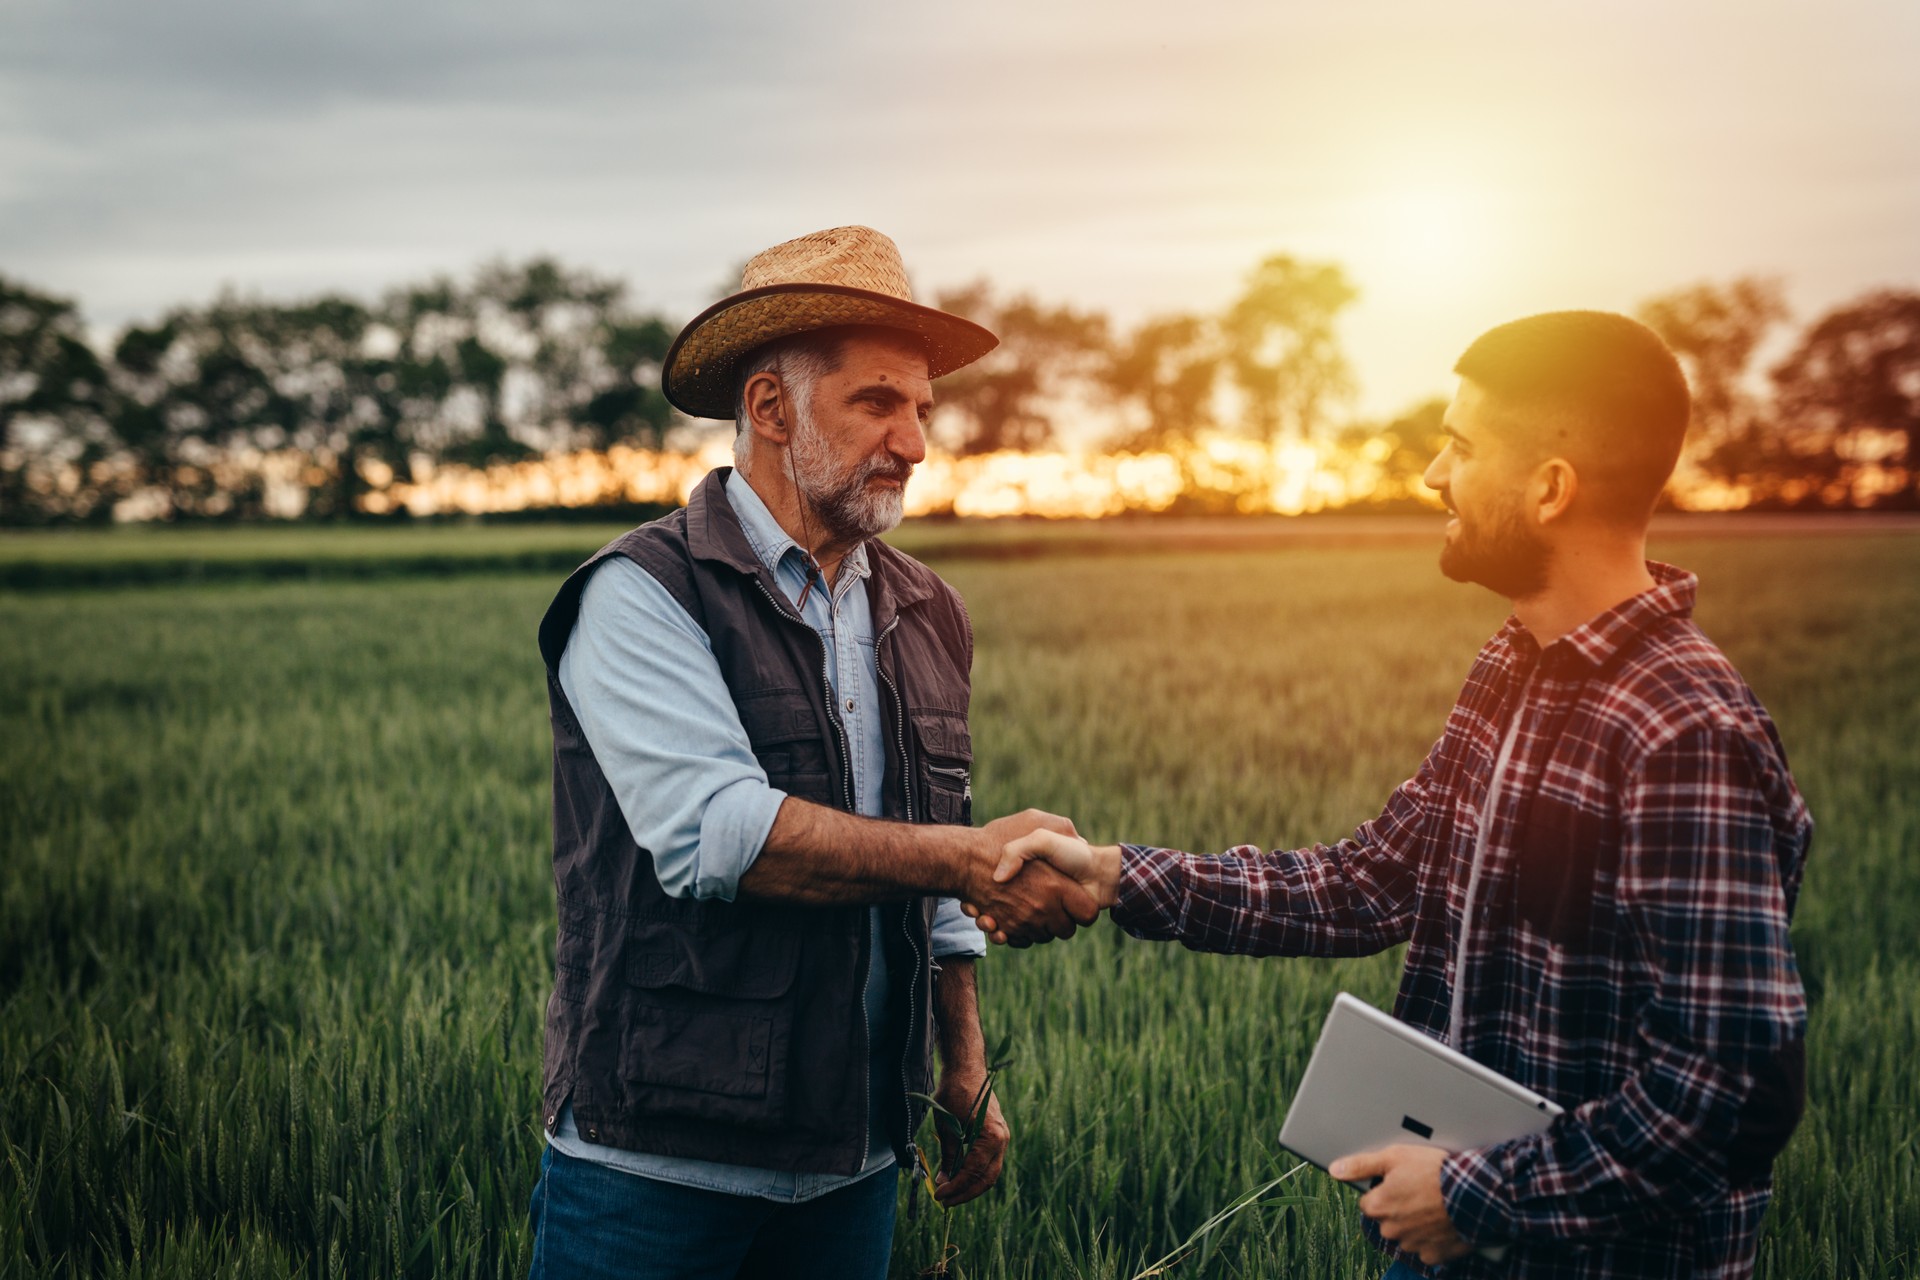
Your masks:
M 1123 850 L 1129 933 L 1252 956 L 1411 942 L 1394 1013 L 1567 1107 L 1448 1157 L 1455 1228 L 1511 1249 L 1438 1274 L 1745 1276 L 1799 1119 L 1788 919 L 1812 823 L 1772 720 L 1692 622 L 1695 578 L 1649 570 L 1651 591 L 1546 651 L 1509 618 L 1419 773 L 1350 839 Z

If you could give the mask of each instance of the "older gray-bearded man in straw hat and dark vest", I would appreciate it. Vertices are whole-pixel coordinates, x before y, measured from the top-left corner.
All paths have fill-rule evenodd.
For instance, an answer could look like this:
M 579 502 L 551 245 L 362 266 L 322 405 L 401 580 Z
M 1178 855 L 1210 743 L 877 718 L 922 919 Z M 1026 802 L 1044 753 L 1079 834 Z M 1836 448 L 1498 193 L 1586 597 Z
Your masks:
M 668 351 L 666 397 L 735 420 L 735 468 L 540 626 L 559 936 L 534 1276 L 883 1276 L 914 1094 L 964 1111 L 985 1077 L 985 948 L 939 894 L 998 896 L 1021 940 L 1096 915 L 1058 875 L 995 889 L 1006 841 L 1071 825 L 968 825 L 966 608 L 877 541 L 931 380 L 993 345 L 843 226 L 756 255 Z M 995 1103 L 939 1199 L 987 1190 L 1006 1144 Z

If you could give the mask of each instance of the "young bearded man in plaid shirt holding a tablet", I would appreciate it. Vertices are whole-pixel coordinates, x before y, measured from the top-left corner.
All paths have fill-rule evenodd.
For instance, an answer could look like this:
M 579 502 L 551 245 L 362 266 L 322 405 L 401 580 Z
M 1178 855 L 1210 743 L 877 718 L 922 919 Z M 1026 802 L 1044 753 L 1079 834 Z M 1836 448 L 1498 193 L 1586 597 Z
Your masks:
M 1129 933 L 1196 950 L 1411 942 L 1394 1013 L 1567 1115 L 1338 1161 L 1380 1178 L 1359 1207 L 1396 1274 L 1745 1276 L 1803 1105 L 1788 919 L 1811 821 L 1692 622 L 1693 576 L 1645 560 L 1686 382 L 1649 330 L 1592 311 L 1494 328 L 1455 372 L 1427 470 L 1453 510 L 1440 568 L 1513 618 L 1386 810 L 1336 844 L 1219 858 L 1037 831 L 998 875 L 1046 860 Z

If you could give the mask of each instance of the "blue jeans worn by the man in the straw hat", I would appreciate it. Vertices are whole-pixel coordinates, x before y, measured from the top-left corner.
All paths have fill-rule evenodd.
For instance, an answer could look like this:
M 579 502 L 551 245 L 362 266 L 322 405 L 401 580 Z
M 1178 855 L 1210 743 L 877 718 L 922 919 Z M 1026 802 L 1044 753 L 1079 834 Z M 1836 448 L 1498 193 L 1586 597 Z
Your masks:
M 801 1203 L 728 1196 L 547 1148 L 530 1280 L 885 1280 L 895 1173 Z

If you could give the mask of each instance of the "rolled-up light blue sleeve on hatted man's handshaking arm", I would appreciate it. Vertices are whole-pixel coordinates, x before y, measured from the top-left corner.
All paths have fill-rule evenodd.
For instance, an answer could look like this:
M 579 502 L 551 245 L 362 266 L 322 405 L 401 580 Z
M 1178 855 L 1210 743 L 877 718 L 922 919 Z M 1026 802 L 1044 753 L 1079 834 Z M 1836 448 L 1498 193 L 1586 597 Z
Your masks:
M 732 900 L 787 796 L 753 756 L 707 631 L 611 557 L 580 595 L 559 681 L 660 889 Z

